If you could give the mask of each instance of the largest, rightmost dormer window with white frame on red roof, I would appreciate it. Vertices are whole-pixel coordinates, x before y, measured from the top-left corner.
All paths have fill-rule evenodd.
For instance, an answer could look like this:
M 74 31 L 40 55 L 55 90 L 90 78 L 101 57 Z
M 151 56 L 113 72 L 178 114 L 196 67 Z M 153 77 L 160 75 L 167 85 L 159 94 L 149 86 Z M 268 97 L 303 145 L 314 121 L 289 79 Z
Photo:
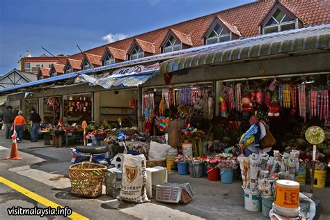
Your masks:
M 274 33 L 287 31 L 297 28 L 297 20 L 283 13 L 279 8 L 276 9 L 272 17 L 269 18 L 265 26 L 262 27 L 262 33 Z

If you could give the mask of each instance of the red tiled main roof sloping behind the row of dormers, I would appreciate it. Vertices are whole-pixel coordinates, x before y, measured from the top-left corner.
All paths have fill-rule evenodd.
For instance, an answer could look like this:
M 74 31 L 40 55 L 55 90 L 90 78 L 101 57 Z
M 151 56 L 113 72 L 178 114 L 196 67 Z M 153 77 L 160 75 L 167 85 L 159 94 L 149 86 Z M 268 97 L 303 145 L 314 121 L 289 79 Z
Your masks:
M 288 10 L 292 11 L 294 15 L 297 15 L 297 17 L 302 22 L 304 22 L 306 26 L 329 23 L 329 0 L 281 0 L 280 2 L 283 4 L 283 6 L 288 8 Z M 243 38 L 257 36 L 259 35 L 260 20 L 265 17 L 273 5 L 274 0 L 253 1 L 242 6 L 229 8 L 217 13 L 212 13 L 203 17 L 197 17 L 185 22 L 166 26 L 155 31 L 142 33 L 138 36 L 133 36 L 124 40 L 111 42 L 107 45 L 88 49 L 86 52 L 89 54 L 102 56 L 104 49 L 107 46 L 127 51 L 134 42 L 134 39 L 138 38 L 139 40 L 143 40 L 144 42 L 148 43 L 148 51 L 152 51 L 152 44 L 155 44 L 155 54 L 159 54 L 161 52 L 160 47 L 162 41 L 168 33 L 168 29 L 174 29 L 180 33 L 190 35 L 192 44 L 194 47 L 198 47 L 203 45 L 203 33 L 210 25 L 210 22 L 212 22 L 212 19 L 214 19 L 214 16 L 219 16 L 223 21 L 230 24 L 231 26 L 236 26 L 237 30 L 239 30 L 239 33 L 241 33 Z M 70 58 L 82 60 L 83 57 L 82 54 L 74 54 L 70 56 Z

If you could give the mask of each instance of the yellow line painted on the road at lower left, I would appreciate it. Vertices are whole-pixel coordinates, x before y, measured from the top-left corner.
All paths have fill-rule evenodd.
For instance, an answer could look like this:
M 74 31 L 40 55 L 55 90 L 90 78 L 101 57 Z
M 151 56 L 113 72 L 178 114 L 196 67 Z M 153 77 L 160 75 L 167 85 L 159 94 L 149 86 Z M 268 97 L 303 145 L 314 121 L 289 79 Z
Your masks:
M 40 203 L 42 205 L 45 205 L 46 207 L 48 207 L 48 206 L 54 207 L 54 208 L 57 208 L 58 206 L 63 207 L 62 205 L 58 205 L 58 204 L 48 200 L 45 197 L 39 196 L 38 194 L 33 193 L 29 189 L 21 187 L 18 184 L 16 184 L 15 182 L 11 182 L 10 180 L 7 180 L 6 178 L 3 178 L 1 176 L 0 176 L 0 182 L 2 182 L 3 184 L 6 184 L 8 187 L 10 187 L 12 189 L 15 189 L 16 191 L 20 192 L 24 196 L 32 198 L 34 201 L 37 201 L 38 203 Z M 82 219 L 82 220 L 87 220 L 88 219 L 88 218 L 82 216 L 81 214 L 78 214 L 77 212 L 72 212 L 72 214 L 70 216 L 68 216 L 68 218 L 70 218 L 70 219 Z

